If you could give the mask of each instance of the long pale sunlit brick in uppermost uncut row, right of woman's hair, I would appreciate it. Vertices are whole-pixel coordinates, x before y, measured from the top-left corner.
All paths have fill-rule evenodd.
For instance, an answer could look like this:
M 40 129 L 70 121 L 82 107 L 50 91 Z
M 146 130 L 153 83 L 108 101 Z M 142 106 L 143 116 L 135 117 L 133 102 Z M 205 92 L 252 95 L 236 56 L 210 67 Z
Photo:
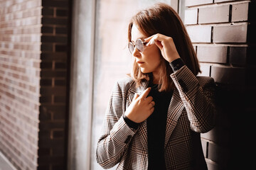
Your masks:
M 228 22 L 229 8 L 229 5 L 199 8 L 198 23 Z

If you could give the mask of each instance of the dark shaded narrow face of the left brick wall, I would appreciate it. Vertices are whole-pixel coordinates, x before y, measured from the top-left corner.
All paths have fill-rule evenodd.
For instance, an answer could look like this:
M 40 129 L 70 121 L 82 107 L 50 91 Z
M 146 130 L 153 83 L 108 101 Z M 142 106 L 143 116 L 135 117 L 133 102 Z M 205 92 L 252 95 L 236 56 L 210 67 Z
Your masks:
M 66 169 L 71 1 L 42 1 L 38 169 Z

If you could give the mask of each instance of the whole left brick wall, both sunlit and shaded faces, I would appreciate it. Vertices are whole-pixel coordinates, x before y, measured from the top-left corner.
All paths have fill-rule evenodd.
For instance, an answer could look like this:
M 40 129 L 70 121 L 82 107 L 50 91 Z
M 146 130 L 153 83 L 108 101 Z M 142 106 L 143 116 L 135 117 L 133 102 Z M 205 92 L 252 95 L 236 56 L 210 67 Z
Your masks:
M 66 169 L 71 7 L 0 1 L 0 152 L 17 169 Z

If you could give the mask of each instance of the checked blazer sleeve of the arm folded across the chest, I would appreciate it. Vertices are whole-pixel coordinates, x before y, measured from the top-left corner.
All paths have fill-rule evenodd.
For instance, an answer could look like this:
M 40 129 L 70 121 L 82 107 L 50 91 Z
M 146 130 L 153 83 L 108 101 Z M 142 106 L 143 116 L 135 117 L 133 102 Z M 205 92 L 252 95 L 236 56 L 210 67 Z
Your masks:
M 105 113 L 102 135 L 97 142 L 96 159 L 104 169 L 118 164 L 136 130 L 129 128 L 123 118 L 126 92 L 118 82 L 114 84 L 110 103 Z

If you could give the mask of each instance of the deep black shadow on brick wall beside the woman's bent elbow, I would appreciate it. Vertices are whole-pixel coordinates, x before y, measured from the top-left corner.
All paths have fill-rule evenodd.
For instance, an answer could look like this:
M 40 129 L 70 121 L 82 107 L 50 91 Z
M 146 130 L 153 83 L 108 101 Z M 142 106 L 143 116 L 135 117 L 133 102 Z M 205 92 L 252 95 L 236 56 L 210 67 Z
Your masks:
M 256 130 L 252 96 L 256 93 L 233 87 L 217 86 L 217 124 L 211 132 L 217 145 L 208 144 L 208 158 L 218 162 L 218 169 L 256 169 L 256 147 L 252 140 Z

